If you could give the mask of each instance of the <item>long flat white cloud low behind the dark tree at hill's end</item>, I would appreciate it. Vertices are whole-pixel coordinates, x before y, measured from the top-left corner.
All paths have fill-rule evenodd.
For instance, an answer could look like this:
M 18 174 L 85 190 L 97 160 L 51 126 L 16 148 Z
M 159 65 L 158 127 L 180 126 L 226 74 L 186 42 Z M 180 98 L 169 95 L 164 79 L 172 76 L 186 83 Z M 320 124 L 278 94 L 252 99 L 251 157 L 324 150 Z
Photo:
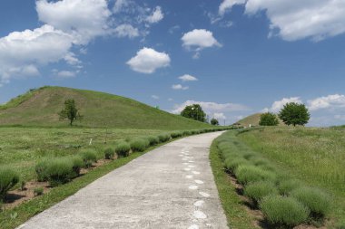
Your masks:
M 208 114 L 221 113 L 226 111 L 229 112 L 249 110 L 248 107 L 236 103 L 217 103 L 212 101 L 186 100 L 182 104 L 175 105 L 173 113 L 180 113 L 186 106 L 190 106 L 192 104 L 200 104 L 202 106 L 202 110 L 204 110 Z

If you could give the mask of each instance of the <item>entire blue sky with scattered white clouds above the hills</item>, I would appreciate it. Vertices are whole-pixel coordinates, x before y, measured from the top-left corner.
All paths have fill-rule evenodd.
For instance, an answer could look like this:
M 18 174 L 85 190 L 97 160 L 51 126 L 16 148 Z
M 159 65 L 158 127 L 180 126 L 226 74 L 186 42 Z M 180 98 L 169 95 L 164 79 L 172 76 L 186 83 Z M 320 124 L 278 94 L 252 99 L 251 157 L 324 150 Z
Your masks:
M 345 124 L 344 0 L 2 0 L 0 103 L 44 85 L 232 124 L 290 101 Z

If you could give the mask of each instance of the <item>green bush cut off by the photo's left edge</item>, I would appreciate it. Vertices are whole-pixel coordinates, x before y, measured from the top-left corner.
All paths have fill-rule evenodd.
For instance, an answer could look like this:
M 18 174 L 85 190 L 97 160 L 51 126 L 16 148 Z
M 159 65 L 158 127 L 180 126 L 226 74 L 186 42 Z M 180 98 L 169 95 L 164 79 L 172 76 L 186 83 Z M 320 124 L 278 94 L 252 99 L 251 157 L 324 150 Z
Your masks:
M 18 174 L 11 168 L 0 168 L 0 200 L 19 182 Z

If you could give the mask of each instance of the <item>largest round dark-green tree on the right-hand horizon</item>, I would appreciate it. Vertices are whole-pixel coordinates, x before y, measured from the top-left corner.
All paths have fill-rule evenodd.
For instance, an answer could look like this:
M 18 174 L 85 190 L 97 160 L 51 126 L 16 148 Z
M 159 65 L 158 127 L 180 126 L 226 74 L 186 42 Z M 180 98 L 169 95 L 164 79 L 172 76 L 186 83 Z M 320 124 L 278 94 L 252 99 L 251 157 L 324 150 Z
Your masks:
M 289 102 L 279 112 L 278 117 L 288 126 L 302 125 L 308 123 L 311 114 L 304 104 Z

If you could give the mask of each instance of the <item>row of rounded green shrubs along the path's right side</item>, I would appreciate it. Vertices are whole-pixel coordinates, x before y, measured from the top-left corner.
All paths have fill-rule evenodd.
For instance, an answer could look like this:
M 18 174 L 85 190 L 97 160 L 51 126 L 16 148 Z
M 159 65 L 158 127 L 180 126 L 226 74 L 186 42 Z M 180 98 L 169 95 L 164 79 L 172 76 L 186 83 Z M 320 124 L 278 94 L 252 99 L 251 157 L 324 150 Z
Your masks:
M 244 196 L 274 227 L 323 220 L 331 199 L 319 188 L 283 174 L 271 161 L 238 141 L 233 133 L 216 139 L 225 169 L 242 184 Z

